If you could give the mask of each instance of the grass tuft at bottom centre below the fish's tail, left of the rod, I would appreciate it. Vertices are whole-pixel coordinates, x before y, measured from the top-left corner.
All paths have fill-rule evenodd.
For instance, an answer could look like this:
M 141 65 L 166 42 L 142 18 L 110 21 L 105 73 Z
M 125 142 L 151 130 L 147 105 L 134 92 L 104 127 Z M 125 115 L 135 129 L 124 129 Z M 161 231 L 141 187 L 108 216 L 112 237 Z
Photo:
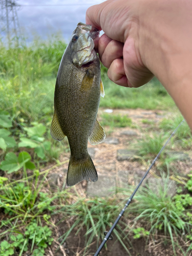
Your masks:
M 111 227 L 111 223 L 114 222 L 119 214 L 119 211 L 120 206 L 115 199 L 79 198 L 77 202 L 73 203 L 72 205 L 63 206 L 57 212 L 62 212 L 62 214 L 65 213 L 66 216 L 63 218 L 63 220 L 69 219 L 70 217 L 73 219 L 73 222 L 71 223 L 69 230 L 59 238 L 60 241 L 62 239 L 61 244 L 66 241 L 67 237 L 73 230 L 75 230 L 75 234 L 77 235 L 82 228 L 85 228 L 86 249 L 92 243 L 93 239 L 97 239 L 98 246 L 99 239 L 103 238 L 103 232 L 106 230 L 107 226 Z M 122 221 L 120 221 L 120 223 L 121 225 L 126 225 Z M 125 234 L 123 232 L 119 233 L 118 230 L 121 230 L 121 226 L 119 224 L 117 224 L 117 228 L 114 229 L 114 233 L 127 253 L 130 253 L 127 249 L 129 240 L 123 240 L 123 235 Z

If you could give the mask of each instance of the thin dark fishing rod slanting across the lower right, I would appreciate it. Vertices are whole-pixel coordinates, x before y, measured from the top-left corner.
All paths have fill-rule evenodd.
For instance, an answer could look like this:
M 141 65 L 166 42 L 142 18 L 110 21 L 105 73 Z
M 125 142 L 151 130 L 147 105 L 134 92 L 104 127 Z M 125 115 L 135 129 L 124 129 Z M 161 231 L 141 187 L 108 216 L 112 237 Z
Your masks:
M 104 234 L 106 234 L 106 236 L 104 237 L 102 243 L 100 244 L 99 248 L 97 249 L 97 251 L 95 252 L 94 256 L 97 256 L 100 252 L 100 250 L 102 249 L 102 247 L 104 246 L 104 244 L 106 243 L 106 241 L 112 240 L 113 237 L 111 235 L 113 229 L 115 228 L 115 226 L 117 225 L 118 221 L 120 220 L 121 216 L 123 215 L 126 207 L 131 203 L 133 197 L 135 196 L 138 188 L 140 187 L 141 183 L 143 182 L 143 180 L 145 179 L 145 177 L 147 176 L 148 172 L 150 172 L 152 166 L 154 165 L 155 161 L 157 160 L 157 158 L 160 156 L 161 152 L 164 150 L 166 144 L 169 142 L 170 138 L 172 138 L 176 131 L 178 130 L 178 128 L 180 127 L 180 125 L 184 122 L 185 120 L 183 119 L 183 121 L 180 122 L 180 124 L 177 126 L 177 128 L 174 130 L 174 132 L 170 135 L 170 137 L 167 139 L 167 141 L 165 142 L 165 144 L 163 145 L 163 147 L 161 148 L 161 150 L 159 151 L 158 155 L 156 156 L 156 158 L 153 160 L 152 164 L 150 165 L 150 167 L 147 169 L 146 173 L 144 174 L 143 178 L 141 179 L 141 181 L 139 182 L 139 184 L 137 185 L 137 187 L 135 188 L 135 190 L 133 191 L 133 194 L 131 195 L 131 197 L 129 198 L 129 200 L 126 202 L 124 208 L 121 210 L 120 214 L 118 215 L 116 221 L 113 223 L 112 227 L 110 228 L 109 231 L 105 231 Z

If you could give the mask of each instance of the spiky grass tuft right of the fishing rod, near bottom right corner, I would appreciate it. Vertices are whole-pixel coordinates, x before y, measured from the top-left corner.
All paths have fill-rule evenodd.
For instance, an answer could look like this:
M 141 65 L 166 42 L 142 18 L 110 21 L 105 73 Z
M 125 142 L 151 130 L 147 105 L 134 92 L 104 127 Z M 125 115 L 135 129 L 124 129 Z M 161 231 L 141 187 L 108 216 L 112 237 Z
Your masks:
M 191 224 L 183 219 L 186 216 L 183 205 L 191 205 L 191 200 L 184 200 L 183 204 L 179 200 L 178 205 L 178 200 L 169 194 L 168 176 L 163 178 L 163 181 L 163 186 L 160 185 L 156 192 L 148 187 L 140 189 L 134 198 L 136 202 L 132 204 L 129 212 L 138 215 L 135 222 L 143 219 L 150 233 L 163 231 L 165 236 L 170 236 L 174 254 L 177 255 L 174 236 L 179 240 L 183 236 L 182 233 L 190 233 Z

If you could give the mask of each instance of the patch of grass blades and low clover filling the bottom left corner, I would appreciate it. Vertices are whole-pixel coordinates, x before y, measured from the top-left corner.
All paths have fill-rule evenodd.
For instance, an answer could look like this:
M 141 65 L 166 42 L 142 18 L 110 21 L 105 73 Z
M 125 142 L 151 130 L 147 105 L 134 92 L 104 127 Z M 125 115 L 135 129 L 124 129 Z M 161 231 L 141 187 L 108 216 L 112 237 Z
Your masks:
M 56 208 L 53 201 L 63 193 L 41 192 L 48 172 L 42 177 L 34 170 L 29 177 L 25 165 L 22 172 L 25 178 L 21 180 L 0 179 L 0 207 L 4 212 L 0 224 L 0 255 L 22 256 L 23 251 L 30 250 L 32 256 L 44 256 L 45 248 L 53 242 L 52 223 L 49 222 Z

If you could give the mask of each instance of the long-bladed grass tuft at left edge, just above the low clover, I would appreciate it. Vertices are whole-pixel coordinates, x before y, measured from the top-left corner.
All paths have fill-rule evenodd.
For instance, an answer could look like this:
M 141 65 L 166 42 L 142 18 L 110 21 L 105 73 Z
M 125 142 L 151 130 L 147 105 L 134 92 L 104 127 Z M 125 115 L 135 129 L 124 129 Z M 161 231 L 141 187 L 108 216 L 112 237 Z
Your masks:
M 1 186 L 0 206 L 5 209 L 5 213 L 12 216 L 15 214 L 25 216 L 27 214 L 32 218 L 42 214 L 44 210 L 54 210 L 55 207 L 51 206 L 51 202 L 55 197 L 48 197 L 47 194 L 40 192 L 43 180 L 38 184 L 38 170 L 35 170 L 34 174 L 34 185 L 33 179 L 31 179 L 26 184 L 16 182 L 14 184 L 10 183 L 9 186 Z

